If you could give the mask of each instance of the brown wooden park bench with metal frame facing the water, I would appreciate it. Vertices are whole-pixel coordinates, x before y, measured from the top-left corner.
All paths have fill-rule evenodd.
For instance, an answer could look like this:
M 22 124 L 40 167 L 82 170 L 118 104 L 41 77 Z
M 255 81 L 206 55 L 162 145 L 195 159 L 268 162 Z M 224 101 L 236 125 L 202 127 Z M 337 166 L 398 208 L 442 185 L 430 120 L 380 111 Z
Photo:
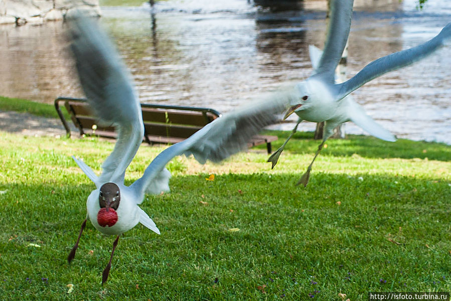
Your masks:
M 114 127 L 97 125 L 97 118 L 91 112 L 86 99 L 58 97 L 55 108 L 68 136 L 71 130 L 64 117 L 60 103 L 70 114 L 72 122 L 80 131 L 80 135 L 98 135 L 115 138 Z M 184 107 L 176 105 L 160 105 L 141 103 L 142 121 L 144 123 L 143 140 L 152 143 L 177 143 L 190 137 L 199 129 L 221 117 L 221 113 L 210 108 Z M 271 153 L 271 141 L 277 136 L 256 135 L 249 141 L 249 147 L 266 143 L 268 154 Z

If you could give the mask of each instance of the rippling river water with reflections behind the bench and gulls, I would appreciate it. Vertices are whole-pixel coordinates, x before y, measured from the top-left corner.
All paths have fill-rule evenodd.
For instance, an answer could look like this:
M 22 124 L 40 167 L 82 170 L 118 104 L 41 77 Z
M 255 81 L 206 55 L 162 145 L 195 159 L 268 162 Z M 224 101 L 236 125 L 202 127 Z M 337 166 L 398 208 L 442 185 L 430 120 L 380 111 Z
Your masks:
M 255 1 L 257 2 L 257 1 Z M 101 22 L 131 69 L 141 101 L 226 112 L 310 75 L 308 45 L 324 45 L 325 1 L 298 8 L 246 0 L 169 0 L 153 10 L 103 8 Z M 418 45 L 451 18 L 451 0 L 355 1 L 348 73 Z M 62 36 L 64 25 L 0 26 L 0 95 L 52 102 L 82 96 Z M 370 115 L 400 137 L 451 143 L 451 46 L 384 75 L 353 93 Z M 291 129 L 292 124 L 283 124 Z M 314 124 L 306 123 L 303 130 Z M 348 123 L 347 132 L 363 133 Z

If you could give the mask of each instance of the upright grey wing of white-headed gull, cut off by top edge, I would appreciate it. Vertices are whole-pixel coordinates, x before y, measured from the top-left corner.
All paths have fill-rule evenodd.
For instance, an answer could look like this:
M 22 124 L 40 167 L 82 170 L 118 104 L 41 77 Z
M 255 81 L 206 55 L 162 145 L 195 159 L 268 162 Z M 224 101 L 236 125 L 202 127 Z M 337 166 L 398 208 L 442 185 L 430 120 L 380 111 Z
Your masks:
M 331 0 L 324 52 L 312 77 L 335 83 L 335 69 L 341 60 L 351 28 L 353 0 Z

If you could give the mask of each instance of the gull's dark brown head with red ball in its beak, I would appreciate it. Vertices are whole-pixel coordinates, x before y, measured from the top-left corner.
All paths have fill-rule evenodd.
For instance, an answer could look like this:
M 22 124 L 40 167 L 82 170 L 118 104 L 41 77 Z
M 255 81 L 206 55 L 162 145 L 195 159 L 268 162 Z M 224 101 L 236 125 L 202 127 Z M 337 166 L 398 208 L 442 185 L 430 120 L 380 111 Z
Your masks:
M 100 226 L 113 226 L 117 222 L 116 210 L 120 203 L 120 190 L 114 183 L 105 183 L 100 187 L 97 222 Z

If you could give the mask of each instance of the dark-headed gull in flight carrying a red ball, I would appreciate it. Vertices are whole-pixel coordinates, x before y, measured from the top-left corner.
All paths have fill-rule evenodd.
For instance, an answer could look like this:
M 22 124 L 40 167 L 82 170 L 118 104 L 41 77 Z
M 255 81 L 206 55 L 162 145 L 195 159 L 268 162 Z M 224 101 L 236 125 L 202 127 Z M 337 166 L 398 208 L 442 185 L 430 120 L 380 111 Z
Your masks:
M 138 205 L 145 193 L 159 194 L 170 190 L 171 173 L 165 168 L 166 164 L 179 155 L 193 155 L 201 164 L 207 160 L 220 162 L 239 152 L 264 126 L 277 122 L 278 116 L 288 107 L 291 94 L 271 94 L 224 114 L 188 139 L 163 150 L 147 166 L 141 178 L 125 186 L 125 170 L 136 155 L 144 132 L 139 98 L 131 75 L 95 20 L 81 12 L 76 13 L 68 20 L 68 37 L 90 106 L 100 122 L 115 126 L 118 135 L 100 176 L 83 161 L 72 157 L 94 183 L 95 189 L 87 198 L 86 218 L 67 260 L 70 263 L 74 259 L 88 219 L 101 233 L 115 235 L 111 256 L 102 274 L 103 285 L 122 233 L 140 223 L 160 234 L 154 221 Z

